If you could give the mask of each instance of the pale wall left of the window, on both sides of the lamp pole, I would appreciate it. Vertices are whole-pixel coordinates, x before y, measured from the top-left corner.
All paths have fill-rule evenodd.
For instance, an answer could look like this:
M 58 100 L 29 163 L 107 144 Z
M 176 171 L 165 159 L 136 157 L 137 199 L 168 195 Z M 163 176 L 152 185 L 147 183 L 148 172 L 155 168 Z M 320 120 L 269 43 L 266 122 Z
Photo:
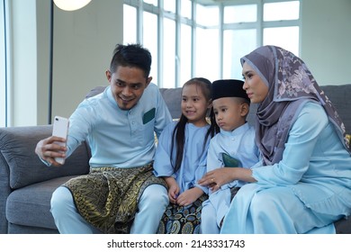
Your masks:
M 12 0 L 11 78 L 13 103 L 9 126 L 48 123 L 49 1 Z M 93 0 L 66 12 L 54 6 L 52 117 L 68 117 L 104 76 L 112 50 L 122 42 L 123 1 Z

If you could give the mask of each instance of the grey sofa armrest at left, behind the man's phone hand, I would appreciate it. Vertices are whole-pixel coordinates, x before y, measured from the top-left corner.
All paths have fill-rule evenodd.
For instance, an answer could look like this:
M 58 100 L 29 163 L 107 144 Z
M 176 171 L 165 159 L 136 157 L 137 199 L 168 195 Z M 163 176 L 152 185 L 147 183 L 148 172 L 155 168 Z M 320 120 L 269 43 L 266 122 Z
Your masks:
M 67 158 L 64 166 L 48 167 L 40 161 L 34 149 L 40 139 L 51 135 L 51 131 L 50 125 L 9 127 L 0 130 L 1 155 L 8 164 L 12 189 L 55 177 L 86 174 L 89 171 L 89 151 L 85 144 L 76 148 L 72 156 Z M 80 168 L 71 169 L 71 166 Z

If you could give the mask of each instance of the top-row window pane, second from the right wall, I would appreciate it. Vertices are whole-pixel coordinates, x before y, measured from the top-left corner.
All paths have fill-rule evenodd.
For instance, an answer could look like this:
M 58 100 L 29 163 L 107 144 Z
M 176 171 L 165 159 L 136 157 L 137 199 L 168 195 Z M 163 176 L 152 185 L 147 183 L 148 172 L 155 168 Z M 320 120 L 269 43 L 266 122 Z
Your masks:
M 224 7 L 224 23 L 244 23 L 257 21 L 257 4 Z

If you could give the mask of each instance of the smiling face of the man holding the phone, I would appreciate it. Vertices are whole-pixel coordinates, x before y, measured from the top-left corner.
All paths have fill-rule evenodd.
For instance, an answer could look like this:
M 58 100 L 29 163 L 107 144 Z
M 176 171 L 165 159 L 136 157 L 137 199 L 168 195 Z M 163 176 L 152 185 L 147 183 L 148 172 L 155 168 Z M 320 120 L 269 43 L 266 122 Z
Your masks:
M 121 110 L 130 110 L 139 102 L 152 77 L 146 78 L 138 67 L 117 67 L 114 73 L 106 70 L 112 95 Z

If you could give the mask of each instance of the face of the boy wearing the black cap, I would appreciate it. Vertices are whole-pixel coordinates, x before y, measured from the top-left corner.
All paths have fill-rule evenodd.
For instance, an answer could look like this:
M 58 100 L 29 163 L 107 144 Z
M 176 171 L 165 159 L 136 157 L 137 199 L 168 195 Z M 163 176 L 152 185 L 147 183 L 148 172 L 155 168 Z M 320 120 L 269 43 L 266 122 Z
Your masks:
M 222 97 L 212 102 L 216 123 L 221 130 L 232 131 L 246 121 L 248 104 L 235 97 Z

